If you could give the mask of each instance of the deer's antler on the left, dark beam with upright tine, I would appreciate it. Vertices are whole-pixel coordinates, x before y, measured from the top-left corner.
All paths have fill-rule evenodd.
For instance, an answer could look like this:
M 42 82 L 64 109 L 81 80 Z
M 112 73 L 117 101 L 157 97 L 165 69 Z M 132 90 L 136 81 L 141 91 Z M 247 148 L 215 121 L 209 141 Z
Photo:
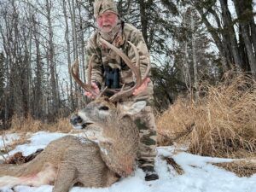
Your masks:
M 92 55 L 92 57 L 93 57 L 94 55 Z M 89 73 L 91 73 L 91 61 L 92 61 L 92 58 L 90 58 L 90 62 L 89 62 Z M 81 81 L 81 79 L 79 79 L 79 60 L 78 59 L 76 59 L 76 61 L 74 61 L 73 62 L 73 64 L 71 65 L 71 67 L 70 67 L 70 72 L 69 73 L 71 73 L 71 75 L 72 75 L 72 77 L 73 77 L 73 79 L 77 82 L 77 84 L 79 84 L 84 90 L 86 90 L 86 91 L 88 91 L 88 92 L 90 92 L 90 93 L 92 93 L 93 95 L 95 95 L 96 96 L 96 93 L 95 93 L 95 91 L 92 89 L 92 87 L 91 87 L 91 84 L 90 84 L 90 78 L 88 78 L 89 79 L 89 83 L 88 84 L 84 84 L 82 81 Z M 89 76 L 90 76 L 90 74 L 89 74 Z

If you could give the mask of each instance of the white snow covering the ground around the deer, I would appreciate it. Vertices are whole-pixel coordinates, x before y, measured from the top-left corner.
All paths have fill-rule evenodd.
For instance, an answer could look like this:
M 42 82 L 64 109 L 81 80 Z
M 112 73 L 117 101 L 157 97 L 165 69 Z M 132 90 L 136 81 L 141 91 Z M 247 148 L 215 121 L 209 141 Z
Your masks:
M 9 154 L 17 151 L 24 155 L 32 154 L 38 148 L 44 148 L 50 141 L 63 137 L 66 134 L 38 132 L 32 134 L 31 143 L 17 146 Z M 15 135 L 7 135 L 9 143 Z M 0 142 L 0 148 L 3 142 Z M 155 169 L 160 179 L 156 181 L 144 181 L 144 173 L 137 169 L 131 177 L 121 179 L 109 188 L 88 189 L 73 187 L 71 192 L 256 192 L 256 174 L 252 177 L 237 177 L 235 173 L 226 172 L 218 166 L 212 166 L 209 162 L 227 162 L 228 159 L 201 157 L 185 152 L 173 153 L 172 147 L 157 148 L 158 156 Z M 163 160 L 163 156 L 172 156 L 178 165 L 182 166 L 184 174 L 178 175 L 172 166 Z M 50 192 L 50 185 L 38 188 L 28 186 L 16 186 L 16 192 Z M 0 192 L 10 192 L 11 189 L 2 188 Z

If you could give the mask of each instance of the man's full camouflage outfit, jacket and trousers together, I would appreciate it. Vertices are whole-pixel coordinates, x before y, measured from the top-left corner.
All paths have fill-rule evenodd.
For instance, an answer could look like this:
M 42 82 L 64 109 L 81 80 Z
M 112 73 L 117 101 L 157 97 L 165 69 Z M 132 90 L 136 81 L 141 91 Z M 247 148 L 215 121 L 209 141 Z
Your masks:
M 123 30 L 122 30 L 123 29 Z M 87 63 L 90 61 L 92 55 L 92 72 L 91 80 L 98 84 L 104 85 L 104 67 L 112 67 L 120 69 L 120 87 L 123 84 L 131 84 L 136 79 L 131 73 L 131 69 L 121 60 L 119 55 L 116 55 L 111 49 L 108 49 L 106 45 L 99 42 L 101 37 L 100 32 L 95 32 L 90 38 L 86 51 L 87 51 Z M 137 47 L 140 56 L 140 70 L 145 73 L 148 62 L 149 54 L 148 48 L 143 39 L 142 32 L 138 31 L 136 27 L 130 24 L 125 24 L 120 27 L 120 31 L 113 39 L 113 45 L 122 49 L 123 52 L 128 55 L 132 63 L 136 63 L 136 57 L 131 45 L 127 43 L 130 41 Z M 127 85 L 130 86 L 130 85 Z M 147 90 L 143 91 L 138 96 L 131 96 L 127 99 L 128 102 L 145 100 L 148 102 L 147 107 L 137 116 L 136 124 L 140 131 L 141 144 L 139 146 L 140 153 L 138 154 L 139 166 L 154 166 L 155 147 L 156 147 L 156 126 L 154 123 L 154 114 L 152 113 L 153 104 L 153 84 L 148 83 Z M 126 102 L 126 101 L 125 101 Z

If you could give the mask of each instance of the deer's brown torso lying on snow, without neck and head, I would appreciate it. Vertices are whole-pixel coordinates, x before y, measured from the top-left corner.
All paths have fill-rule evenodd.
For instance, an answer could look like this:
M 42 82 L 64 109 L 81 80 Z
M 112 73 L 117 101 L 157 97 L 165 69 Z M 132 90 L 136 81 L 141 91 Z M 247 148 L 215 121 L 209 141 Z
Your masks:
M 49 175 L 49 172 L 52 174 Z M 102 160 L 96 143 L 73 136 L 49 143 L 31 162 L 20 166 L 0 166 L 0 175 L 19 177 L 15 185 L 55 183 L 57 187 L 54 191 L 68 191 L 74 183 L 82 183 L 86 187 L 106 187 L 118 179 Z M 48 177 L 40 180 L 44 175 Z M 1 183 L 0 180 L 1 184 L 5 184 L 4 181 Z M 12 184 L 9 184 L 11 187 Z

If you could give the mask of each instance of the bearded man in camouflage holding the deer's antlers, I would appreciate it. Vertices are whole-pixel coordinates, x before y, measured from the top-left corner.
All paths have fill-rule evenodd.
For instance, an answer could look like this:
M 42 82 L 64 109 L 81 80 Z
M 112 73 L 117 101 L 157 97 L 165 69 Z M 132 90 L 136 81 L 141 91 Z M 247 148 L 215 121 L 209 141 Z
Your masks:
M 124 23 L 120 20 L 116 4 L 113 0 L 96 0 L 94 3 L 94 16 L 98 30 L 90 37 L 87 45 L 87 58 L 89 62 L 92 55 L 96 55 L 92 60 L 91 81 L 92 87 L 96 93 L 100 92 L 102 86 L 117 89 L 125 84 L 125 87 L 134 84 L 134 78 L 131 69 L 124 61 L 99 42 L 99 38 L 104 38 L 110 44 L 121 49 L 125 55 L 128 55 L 133 63 L 136 63 L 136 56 L 127 43 L 130 41 L 135 44 L 140 56 L 140 70 L 143 76 L 149 62 L 148 48 L 143 39 L 142 32 L 136 27 Z M 109 76 L 113 79 L 109 80 Z M 93 98 L 90 92 L 85 92 L 85 96 Z M 138 154 L 138 166 L 146 173 L 145 180 L 158 179 L 154 171 L 154 158 L 156 155 L 156 127 L 154 123 L 154 114 L 151 105 L 153 104 L 153 84 L 150 79 L 138 87 L 131 96 L 130 101 L 145 100 L 147 107 L 136 117 L 136 124 L 140 131 L 140 146 Z

